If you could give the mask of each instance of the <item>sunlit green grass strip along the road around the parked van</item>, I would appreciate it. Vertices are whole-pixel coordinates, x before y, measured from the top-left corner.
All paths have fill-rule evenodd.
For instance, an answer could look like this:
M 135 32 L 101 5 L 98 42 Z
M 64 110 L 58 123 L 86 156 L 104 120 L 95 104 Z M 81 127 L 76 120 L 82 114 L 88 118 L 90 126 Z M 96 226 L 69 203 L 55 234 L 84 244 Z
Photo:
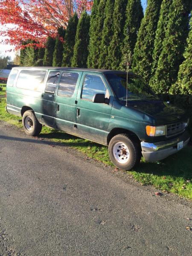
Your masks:
M 0 99 L 0 119 L 22 127 L 18 122 L 20 117 L 10 115 L 5 111 L 6 99 Z M 42 138 L 67 145 L 84 153 L 87 157 L 99 160 L 105 165 L 113 166 L 108 157 L 108 148 L 88 140 L 68 135 L 64 132 L 43 127 L 40 134 Z M 157 189 L 172 192 L 180 197 L 192 199 L 192 147 L 188 146 L 179 153 L 165 160 L 146 163 L 142 158 L 137 169 L 127 172 L 135 180 L 144 185 L 153 185 Z

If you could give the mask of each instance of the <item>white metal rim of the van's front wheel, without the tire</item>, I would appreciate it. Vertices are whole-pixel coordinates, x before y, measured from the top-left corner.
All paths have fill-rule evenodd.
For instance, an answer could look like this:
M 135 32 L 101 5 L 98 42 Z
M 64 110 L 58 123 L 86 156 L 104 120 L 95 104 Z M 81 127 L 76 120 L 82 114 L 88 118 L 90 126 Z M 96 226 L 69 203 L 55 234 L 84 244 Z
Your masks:
M 113 156 L 118 163 L 127 163 L 130 157 L 128 146 L 123 142 L 117 142 L 113 146 Z

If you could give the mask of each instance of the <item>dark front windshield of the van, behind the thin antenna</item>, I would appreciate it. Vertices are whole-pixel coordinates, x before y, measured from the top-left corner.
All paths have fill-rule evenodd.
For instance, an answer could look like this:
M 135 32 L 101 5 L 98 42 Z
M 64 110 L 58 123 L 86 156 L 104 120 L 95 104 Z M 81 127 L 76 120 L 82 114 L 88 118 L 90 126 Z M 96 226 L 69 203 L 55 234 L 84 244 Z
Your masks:
M 116 97 L 121 101 L 127 98 L 127 74 L 108 73 L 105 74 Z M 149 85 L 139 76 L 128 74 L 128 100 L 158 99 Z

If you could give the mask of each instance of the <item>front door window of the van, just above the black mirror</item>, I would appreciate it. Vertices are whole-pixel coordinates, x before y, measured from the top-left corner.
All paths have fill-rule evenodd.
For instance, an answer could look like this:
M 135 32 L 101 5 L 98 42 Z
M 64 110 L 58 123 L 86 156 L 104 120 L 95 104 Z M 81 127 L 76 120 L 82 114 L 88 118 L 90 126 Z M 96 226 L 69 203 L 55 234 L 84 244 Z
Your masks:
M 96 93 L 106 93 L 106 87 L 100 76 L 86 75 L 81 93 L 81 99 L 93 100 Z

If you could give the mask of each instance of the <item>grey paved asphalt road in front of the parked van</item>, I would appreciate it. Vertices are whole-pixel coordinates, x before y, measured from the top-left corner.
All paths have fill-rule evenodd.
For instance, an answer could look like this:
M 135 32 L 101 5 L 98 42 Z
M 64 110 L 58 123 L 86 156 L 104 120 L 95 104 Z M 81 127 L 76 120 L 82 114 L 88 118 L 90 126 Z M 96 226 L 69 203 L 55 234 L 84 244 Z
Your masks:
M 185 256 L 190 203 L 0 122 L 0 255 Z

